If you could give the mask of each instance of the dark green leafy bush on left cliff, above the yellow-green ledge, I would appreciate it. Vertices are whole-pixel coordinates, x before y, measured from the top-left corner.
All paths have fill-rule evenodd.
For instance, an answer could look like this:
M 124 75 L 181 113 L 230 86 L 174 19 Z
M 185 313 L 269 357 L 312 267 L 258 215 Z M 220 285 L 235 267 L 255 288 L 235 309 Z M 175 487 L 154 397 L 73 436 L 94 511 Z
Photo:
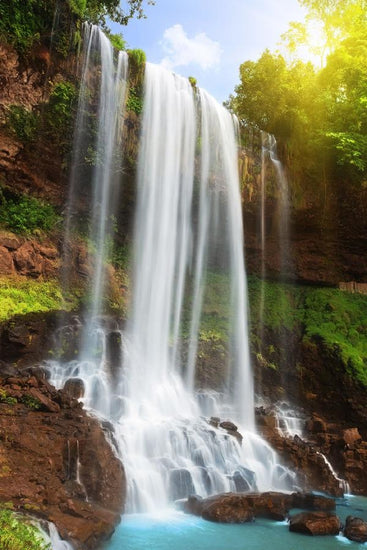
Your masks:
M 50 231 L 59 220 L 54 208 L 35 197 L 27 195 L 16 199 L 1 198 L 1 225 L 13 231 L 29 235 L 36 230 Z

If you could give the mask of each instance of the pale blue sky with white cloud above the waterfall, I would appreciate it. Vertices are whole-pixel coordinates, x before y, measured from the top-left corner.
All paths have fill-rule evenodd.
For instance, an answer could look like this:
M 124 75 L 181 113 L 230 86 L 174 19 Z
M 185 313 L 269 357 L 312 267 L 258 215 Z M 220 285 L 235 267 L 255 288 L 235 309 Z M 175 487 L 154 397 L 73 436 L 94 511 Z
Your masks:
M 224 101 L 238 83 L 239 65 L 275 50 L 288 22 L 303 19 L 297 0 L 156 0 L 147 19 L 122 32 L 130 48 L 145 50 L 162 63 Z

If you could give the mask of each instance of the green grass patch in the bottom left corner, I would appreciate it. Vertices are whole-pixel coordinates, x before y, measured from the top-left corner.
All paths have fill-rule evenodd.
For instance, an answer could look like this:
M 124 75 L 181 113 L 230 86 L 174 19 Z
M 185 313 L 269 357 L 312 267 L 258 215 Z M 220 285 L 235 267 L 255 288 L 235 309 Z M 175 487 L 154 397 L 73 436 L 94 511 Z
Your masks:
M 0 510 L 0 548 L 3 550 L 51 550 L 37 527 L 10 510 Z

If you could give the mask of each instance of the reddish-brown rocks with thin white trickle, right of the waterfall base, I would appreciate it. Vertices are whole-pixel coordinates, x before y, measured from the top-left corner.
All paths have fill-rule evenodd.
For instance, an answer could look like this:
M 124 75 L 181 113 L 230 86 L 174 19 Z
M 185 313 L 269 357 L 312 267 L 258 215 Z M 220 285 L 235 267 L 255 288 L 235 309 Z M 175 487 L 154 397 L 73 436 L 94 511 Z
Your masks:
M 261 435 L 305 490 L 333 496 L 346 490 L 367 494 L 367 441 L 356 426 L 328 422 L 313 413 L 303 422 L 302 437 L 291 437 L 278 429 L 276 411 L 264 407 L 256 409 L 256 421 Z

